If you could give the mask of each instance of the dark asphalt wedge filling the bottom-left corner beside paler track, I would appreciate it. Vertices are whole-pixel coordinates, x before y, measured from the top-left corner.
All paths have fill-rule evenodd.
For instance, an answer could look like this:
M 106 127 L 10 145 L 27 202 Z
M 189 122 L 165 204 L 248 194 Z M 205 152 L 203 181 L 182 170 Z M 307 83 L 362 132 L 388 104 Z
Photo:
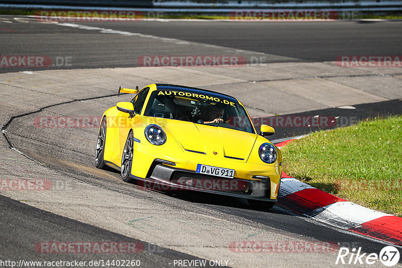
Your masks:
M 39 253 L 38 248 L 32 246 L 32 241 L 121 241 L 135 243 L 139 245 L 137 255 L 141 265 L 145 267 L 165 267 L 167 263 L 174 259 L 199 259 L 183 254 L 168 248 L 162 248 L 131 237 L 126 237 L 102 228 L 94 227 L 89 224 L 81 223 L 72 219 L 58 216 L 56 214 L 31 207 L 16 200 L 0 195 L 0 216 L 2 218 L 2 260 L 12 259 L 19 256 L 23 260 L 30 261 L 86 261 L 93 259 L 104 259 L 104 254 L 91 253 L 64 253 L 52 254 L 51 259 L 46 256 L 46 252 Z M 23 219 L 23 220 L 21 220 Z M 5 246 L 5 244 L 8 244 Z M 136 254 L 136 253 L 134 253 Z M 35 256 L 35 257 L 33 257 Z M 109 259 L 133 259 L 133 253 L 110 253 Z M 30 265 L 31 266 L 31 265 Z M 63 265 L 64 266 L 64 265 Z M 84 265 L 86 266 L 86 265 Z

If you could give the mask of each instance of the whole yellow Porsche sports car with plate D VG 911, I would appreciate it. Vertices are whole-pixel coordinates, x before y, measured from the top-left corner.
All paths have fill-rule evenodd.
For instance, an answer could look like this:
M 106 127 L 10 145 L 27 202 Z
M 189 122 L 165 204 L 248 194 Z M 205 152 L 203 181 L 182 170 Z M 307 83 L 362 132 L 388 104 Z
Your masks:
M 282 155 L 255 130 L 244 105 L 205 89 L 151 84 L 105 111 L 95 152 L 97 168 L 121 171 L 125 182 L 156 190 L 195 190 L 246 198 L 271 208 Z

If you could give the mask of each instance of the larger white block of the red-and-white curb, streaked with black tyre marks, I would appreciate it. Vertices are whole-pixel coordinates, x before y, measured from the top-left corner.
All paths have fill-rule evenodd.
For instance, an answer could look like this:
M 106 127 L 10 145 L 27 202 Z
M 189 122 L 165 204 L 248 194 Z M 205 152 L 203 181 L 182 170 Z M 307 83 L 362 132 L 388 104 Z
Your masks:
M 320 210 L 323 210 L 323 208 L 316 209 L 317 212 Z M 315 211 L 312 212 L 313 215 L 314 212 Z M 353 226 L 377 219 L 382 216 L 390 215 L 349 201 L 341 201 L 324 207 L 324 211 L 312 217 L 312 219 L 325 222 L 342 229 L 349 229 Z

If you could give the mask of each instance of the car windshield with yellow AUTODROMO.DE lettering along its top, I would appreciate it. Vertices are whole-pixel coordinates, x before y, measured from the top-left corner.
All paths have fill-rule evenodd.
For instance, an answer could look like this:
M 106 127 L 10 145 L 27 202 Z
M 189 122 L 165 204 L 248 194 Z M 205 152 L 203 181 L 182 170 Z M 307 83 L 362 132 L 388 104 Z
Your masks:
M 255 133 L 242 105 L 223 95 L 200 93 L 180 89 L 154 91 L 144 115 Z

